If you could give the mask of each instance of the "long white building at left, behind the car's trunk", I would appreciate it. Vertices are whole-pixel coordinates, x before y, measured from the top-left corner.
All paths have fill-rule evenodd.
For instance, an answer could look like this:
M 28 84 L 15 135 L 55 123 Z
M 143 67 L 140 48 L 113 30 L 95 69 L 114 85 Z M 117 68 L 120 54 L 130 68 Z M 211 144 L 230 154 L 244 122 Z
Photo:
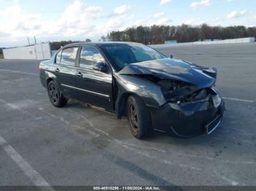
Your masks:
M 50 59 L 50 44 L 40 43 L 27 47 L 14 47 L 3 50 L 5 59 L 31 59 L 45 60 Z

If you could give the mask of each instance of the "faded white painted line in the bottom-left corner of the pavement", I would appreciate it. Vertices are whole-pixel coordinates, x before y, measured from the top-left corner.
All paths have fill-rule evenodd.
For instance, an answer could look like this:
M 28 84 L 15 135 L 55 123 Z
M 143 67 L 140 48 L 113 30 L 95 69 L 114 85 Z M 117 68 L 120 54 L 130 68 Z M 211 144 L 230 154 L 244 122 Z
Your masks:
M 26 176 L 29 177 L 31 182 L 35 186 L 38 187 L 44 187 L 42 190 L 53 190 L 52 187 L 50 187 L 50 184 L 45 181 L 44 178 L 36 171 L 34 168 L 29 165 L 29 163 L 26 162 L 26 160 L 21 157 L 18 152 L 10 146 L 10 144 L 5 141 L 4 138 L 0 136 L 0 147 L 4 149 L 5 152 L 12 158 L 12 160 L 15 161 L 15 163 L 21 168 L 21 170 L 26 174 Z

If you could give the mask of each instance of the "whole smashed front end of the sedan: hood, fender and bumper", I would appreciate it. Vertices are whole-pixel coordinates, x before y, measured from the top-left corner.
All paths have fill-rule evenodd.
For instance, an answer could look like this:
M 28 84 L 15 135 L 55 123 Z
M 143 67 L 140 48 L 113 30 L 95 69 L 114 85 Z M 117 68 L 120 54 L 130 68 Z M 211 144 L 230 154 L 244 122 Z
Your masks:
M 186 61 L 161 59 L 129 64 L 118 72 L 122 92 L 134 93 L 148 106 L 154 129 L 173 136 L 211 133 L 222 120 L 225 103 L 214 88 L 217 70 Z

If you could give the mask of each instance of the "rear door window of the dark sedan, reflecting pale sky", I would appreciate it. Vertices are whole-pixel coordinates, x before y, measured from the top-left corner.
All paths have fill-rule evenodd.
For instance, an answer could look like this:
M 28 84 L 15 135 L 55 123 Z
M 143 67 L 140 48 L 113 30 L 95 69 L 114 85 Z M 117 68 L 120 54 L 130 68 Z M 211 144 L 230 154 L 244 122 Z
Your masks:
M 75 58 L 78 52 L 78 47 L 68 47 L 62 51 L 61 64 L 75 66 Z

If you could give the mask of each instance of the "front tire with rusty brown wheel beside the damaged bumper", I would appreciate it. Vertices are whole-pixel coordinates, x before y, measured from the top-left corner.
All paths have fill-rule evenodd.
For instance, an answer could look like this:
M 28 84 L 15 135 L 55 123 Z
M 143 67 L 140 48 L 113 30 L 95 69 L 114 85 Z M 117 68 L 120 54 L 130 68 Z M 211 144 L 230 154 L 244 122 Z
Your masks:
M 129 130 L 136 139 L 145 139 L 152 134 L 151 115 L 143 101 L 136 95 L 127 99 Z

